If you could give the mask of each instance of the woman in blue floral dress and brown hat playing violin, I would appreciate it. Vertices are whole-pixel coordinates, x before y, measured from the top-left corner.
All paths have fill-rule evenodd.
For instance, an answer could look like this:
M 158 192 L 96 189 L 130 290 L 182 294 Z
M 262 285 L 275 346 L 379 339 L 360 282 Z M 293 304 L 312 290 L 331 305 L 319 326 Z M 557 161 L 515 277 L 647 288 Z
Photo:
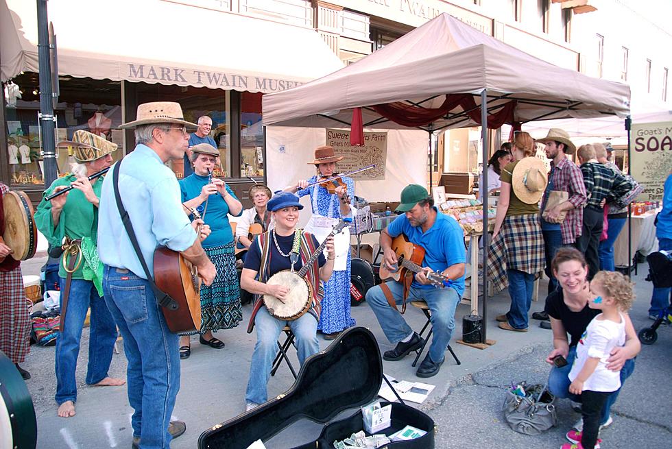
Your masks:
M 333 147 L 322 146 L 315 149 L 317 174 L 309 180 L 300 180 L 296 186 L 285 189 L 299 197 L 310 195 L 313 215 L 306 226 L 318 241 L 323 241 L 341 217 L 352 215 L 351 199 L 355 195 L 355 182 L 343 176 L 333 181 L 309 186 L 320 180 L 337 176 L 336 162 L 343 159 L 335 156 Z M 350 317 L 350 232 L 345 228 L 334 238 L 336 260 L 331 280 L 324 284 L 324 299 L 318 330 L 322 330 L 324 339 L 335 339 L 339 332 L 355 326 Z

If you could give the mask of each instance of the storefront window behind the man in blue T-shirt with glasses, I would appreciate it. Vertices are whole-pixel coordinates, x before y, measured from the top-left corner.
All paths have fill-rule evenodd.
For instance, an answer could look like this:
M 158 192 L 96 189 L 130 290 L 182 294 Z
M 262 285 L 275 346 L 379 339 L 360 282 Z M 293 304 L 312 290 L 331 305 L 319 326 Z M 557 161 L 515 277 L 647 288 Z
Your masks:
M 136 104 L 149 101 L 177 101 L 182 106 L 182 113 L 187 121 L 197 123 L 199 117 L 204 115 L 210 117 L 213 121 L 213 127 L 209 135 L 215 140 L 220 154 L 219 167 L 213 171 L 213 175 L 219 178 L 230 178 L 232 176 L 231 108 L 230 92 L 228 90 L 147 83 L 128 84 L 132 86 L 136 93 L 131 100 Z M 261 101 L 259 109 L 261 111 Z M 184 176 L 182 160 L 171 161 L 171 167 L 178 178 Z

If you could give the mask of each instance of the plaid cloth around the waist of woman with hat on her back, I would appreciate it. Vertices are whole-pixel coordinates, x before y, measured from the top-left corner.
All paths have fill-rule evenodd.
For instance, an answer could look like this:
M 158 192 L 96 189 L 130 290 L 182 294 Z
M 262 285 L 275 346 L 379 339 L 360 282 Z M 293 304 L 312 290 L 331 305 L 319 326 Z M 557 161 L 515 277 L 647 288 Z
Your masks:
M 502 228 L 490 243 L 488 274 L 495 293 L 509 286 L 507 269 L 529 274 L 544 270 L 544 237 L 538 214 L 505 217 Z

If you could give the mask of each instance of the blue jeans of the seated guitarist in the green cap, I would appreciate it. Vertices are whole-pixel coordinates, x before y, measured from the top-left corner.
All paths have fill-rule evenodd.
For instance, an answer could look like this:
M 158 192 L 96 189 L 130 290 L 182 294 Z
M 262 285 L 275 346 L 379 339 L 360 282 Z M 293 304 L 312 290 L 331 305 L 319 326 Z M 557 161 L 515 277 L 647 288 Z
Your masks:
M 396 304 L 403 303 L 403 285 L 399 282 L 387 282 L 387 287 L 392 291 Z M 459 302 L 459 295 L 453 288 L 446 289 L 418 289 L 411 287 L 408 300 L 422 299 L 427 302 L 431 312 L 432 342 L 429 346 L 429 356 L 434 363 L 444 359 L 444 352 L 451 341 L 455 328 L 455 308 Z M 390 343 L 398 343 L 413 332 L 406 324 L 404 317 L 387 302 L 385 293 L 379 285 L 366 292 L 366 302 L 372 308 L 378 318 L 378 322 L 385 332 L 385 337 Z

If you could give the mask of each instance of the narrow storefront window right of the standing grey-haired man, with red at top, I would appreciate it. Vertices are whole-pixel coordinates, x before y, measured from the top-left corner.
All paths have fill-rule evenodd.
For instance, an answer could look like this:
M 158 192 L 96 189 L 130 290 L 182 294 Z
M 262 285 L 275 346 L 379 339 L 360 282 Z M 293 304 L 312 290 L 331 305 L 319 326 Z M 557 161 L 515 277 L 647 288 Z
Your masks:
M 241 93 L 241 178 L 263 176 L 261 93 Z

